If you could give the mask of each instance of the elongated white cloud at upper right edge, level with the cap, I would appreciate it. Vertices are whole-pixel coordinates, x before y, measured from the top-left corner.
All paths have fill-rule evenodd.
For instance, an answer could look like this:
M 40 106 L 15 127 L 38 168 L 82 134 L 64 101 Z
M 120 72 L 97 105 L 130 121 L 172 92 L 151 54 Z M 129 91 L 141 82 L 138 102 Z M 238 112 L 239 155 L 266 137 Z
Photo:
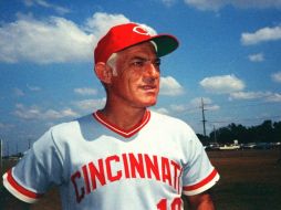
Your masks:
M 263 28 L 253 33 L 244 32 L 241 35 L 241 43 L 243 45 L 252 45 L 261 42 L 281 40 L 281 27 Z

